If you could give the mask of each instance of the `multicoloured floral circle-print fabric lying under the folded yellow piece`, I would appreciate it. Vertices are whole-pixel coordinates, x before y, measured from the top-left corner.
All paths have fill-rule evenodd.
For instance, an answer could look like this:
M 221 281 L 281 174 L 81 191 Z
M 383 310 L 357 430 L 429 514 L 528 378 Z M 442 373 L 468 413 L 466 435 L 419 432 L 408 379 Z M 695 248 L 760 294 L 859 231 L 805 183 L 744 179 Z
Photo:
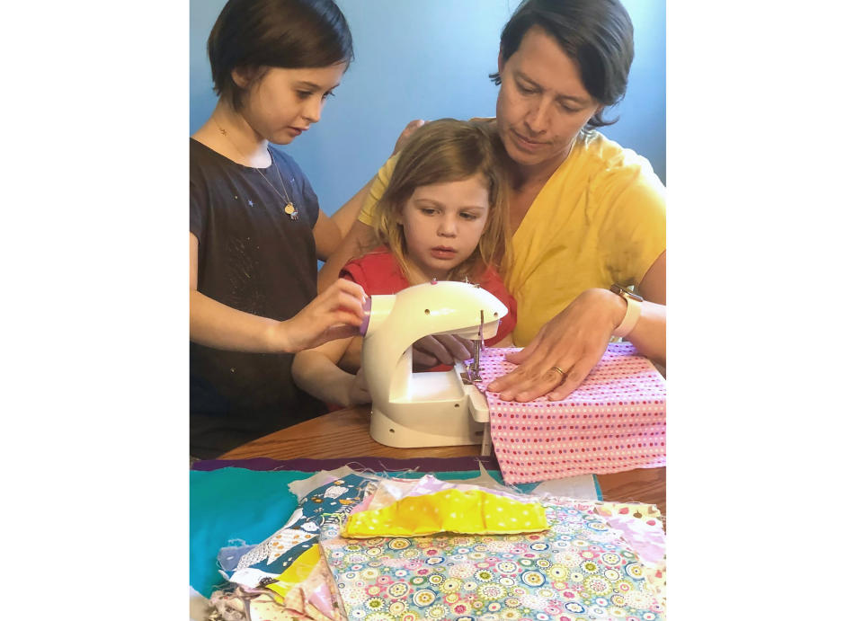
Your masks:
M 645 565 L 597 504 L 543 501 L 550 528 L 517 535 L 346 539 L 321 546 L 349 619 L 663 618 Z

